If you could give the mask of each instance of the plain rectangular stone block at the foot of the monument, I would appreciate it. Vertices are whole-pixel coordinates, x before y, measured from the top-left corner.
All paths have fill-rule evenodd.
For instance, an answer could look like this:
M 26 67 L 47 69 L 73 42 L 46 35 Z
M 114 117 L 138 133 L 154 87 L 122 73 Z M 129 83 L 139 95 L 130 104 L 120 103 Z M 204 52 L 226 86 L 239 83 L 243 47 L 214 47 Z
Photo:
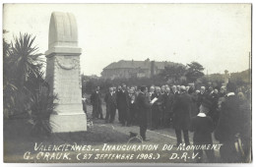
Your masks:
M 50 115 L 52 133 L 86 132 L 87 115 L 85 113 Z

